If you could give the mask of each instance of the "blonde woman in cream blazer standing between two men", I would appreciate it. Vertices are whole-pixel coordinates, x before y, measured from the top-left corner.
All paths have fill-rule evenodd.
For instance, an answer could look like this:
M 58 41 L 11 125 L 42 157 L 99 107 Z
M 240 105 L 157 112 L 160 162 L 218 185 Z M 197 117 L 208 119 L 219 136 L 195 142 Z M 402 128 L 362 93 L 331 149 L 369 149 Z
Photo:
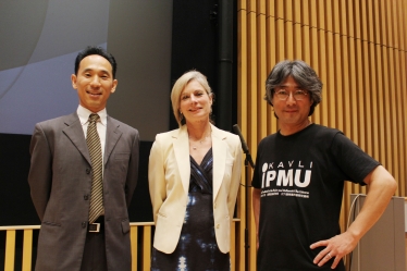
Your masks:
M 158 134 L 149 158 L 151 270 L 230 270 L 239 138 L 211 124 L 213 94 L 201 73 L 182 75 L 171 101 L 180 128 Z

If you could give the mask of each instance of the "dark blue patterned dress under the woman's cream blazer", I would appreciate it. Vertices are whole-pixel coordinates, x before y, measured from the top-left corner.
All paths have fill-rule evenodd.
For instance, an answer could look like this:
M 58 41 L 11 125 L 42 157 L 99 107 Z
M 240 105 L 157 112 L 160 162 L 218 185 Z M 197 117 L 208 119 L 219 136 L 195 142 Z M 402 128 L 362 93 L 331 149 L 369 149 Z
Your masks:
M 178 244 L 168 255 L 152 248 L 151 271 L 229 271 L 213 227 L 212 148 L 200 164 L 190 157 L 188 205 Z

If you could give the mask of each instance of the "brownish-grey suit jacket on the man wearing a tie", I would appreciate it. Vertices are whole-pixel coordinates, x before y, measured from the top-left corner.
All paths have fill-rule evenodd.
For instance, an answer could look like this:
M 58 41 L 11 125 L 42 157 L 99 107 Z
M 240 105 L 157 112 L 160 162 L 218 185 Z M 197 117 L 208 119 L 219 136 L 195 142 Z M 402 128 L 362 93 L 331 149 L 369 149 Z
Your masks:
M 131 270 L 127 207 L 138 176 L 137 130 L 110 116 L 103 158 L 108 270 Z M 30 194 L 41 229 L 36 270 L 79 270 L 85 246 L 91 164 L 75 113 L 36 124 L 30 144 Z

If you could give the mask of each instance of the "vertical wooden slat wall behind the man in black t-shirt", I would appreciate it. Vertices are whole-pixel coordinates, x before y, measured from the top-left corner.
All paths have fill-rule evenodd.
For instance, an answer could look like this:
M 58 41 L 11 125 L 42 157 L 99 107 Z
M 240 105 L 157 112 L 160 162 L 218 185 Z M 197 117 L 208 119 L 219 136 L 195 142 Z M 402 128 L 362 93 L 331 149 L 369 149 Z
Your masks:
M 261 138 L 279 130 L 263 100 L 267 75 L 284 59 L 303 59 L 323 83 L 311 121 L 343 131 L 395 176 L 396 196 L 406 196 L 406 12 L 404 0 L 239 0 L 238 124 L 251 155 Z M 343 230 L 349 194 L 368 187 L 347 182 L 344 189 Z M 251 202 L 248 208 L 251 212 Z M 255 270 L 252 215 L 249 224 Z

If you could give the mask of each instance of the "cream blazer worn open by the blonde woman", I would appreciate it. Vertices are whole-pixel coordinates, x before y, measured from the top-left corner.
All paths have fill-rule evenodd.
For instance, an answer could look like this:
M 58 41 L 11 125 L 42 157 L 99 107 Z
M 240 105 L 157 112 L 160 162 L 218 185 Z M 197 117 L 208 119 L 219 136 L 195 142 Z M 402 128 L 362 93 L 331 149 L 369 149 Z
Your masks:
M 213 220 L 219 249 L 230 251 L 231 221 L 240 183 L 242 145 L 238 136 L 212 126 Z M 186 125 L 158 134 L 150 150 L 148 182 L 156 233 L 153 247 L 175 250 L 185 219 L 190 178 Z

